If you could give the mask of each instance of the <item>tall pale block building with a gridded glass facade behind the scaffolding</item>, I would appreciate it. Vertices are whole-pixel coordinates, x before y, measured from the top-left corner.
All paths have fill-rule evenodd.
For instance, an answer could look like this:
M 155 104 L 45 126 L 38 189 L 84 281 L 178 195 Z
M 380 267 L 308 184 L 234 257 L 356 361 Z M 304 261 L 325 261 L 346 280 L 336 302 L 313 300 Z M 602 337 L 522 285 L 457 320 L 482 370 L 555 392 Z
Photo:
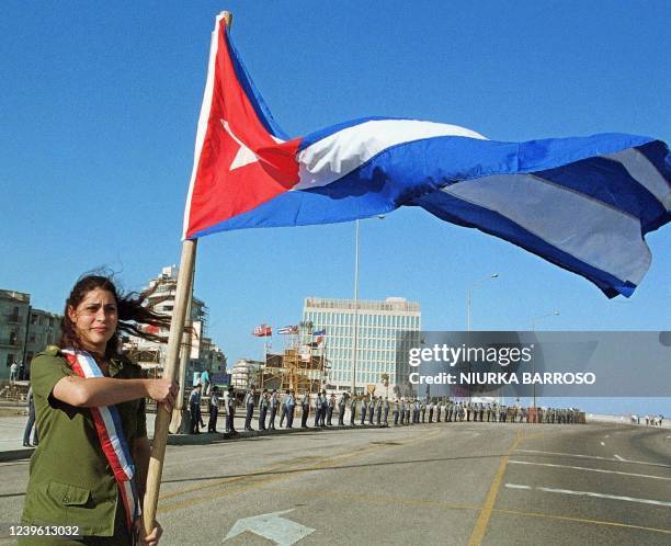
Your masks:
M 351 390 L 355 362 L 356 393 L 375 388 L 376 396 L 408 396 L 409 365 L 403 343 L 419 343 L 420 304 L 400 297 L 386 300 L 305 299 L 304 330 L 323 333 L 320 342 L 327 360 L 331 390 Z M 355 328 L 355 325 L 356 328 Z M 355 335 L 356 332 L 356 335 Z M 354 360 L 354 345 L 356 359 Z M 385 378 L 388 385 L 385 385 Z

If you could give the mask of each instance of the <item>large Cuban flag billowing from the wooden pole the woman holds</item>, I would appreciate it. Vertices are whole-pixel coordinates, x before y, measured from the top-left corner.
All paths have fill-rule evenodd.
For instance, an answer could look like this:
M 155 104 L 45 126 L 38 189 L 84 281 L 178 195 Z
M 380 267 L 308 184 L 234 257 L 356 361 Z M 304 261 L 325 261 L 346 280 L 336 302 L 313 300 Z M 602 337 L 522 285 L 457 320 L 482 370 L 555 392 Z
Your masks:
M 645 235 L 671 220 L 671 156 L 655 138 L 603 134 L 526 143 L 464 127 L 368 117 L 291 139 L 217 18 L 185 239 L 329 224 L 419 206 L 630 296 Z

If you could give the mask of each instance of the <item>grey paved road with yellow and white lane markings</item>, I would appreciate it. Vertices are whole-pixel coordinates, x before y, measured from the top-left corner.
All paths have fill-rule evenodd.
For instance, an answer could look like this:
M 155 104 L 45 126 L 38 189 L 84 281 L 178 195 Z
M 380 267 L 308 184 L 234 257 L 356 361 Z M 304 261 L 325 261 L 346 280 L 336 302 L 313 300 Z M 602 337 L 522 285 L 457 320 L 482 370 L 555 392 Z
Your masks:
M 25 462 L 0 465 L 1 522 L 19 520 L 26 475 Z M 671 437 L 441 423 L 168 448 L 162 544 L 221 544 L 272 512 L 284 513 L 257 528 L 282 523 L 299 545 L 670 544 Z M 246 531 L 225 544 L 273 543 Z

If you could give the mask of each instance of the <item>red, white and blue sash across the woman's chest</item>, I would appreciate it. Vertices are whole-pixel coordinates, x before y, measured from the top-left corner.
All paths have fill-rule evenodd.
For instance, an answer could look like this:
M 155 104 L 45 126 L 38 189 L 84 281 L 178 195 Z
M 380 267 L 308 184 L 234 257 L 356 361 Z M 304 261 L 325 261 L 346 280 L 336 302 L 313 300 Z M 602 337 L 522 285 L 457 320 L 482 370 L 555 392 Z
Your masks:
M 89 353 L 72 349 L 64 349 L 61 352 L 78 376 L 87 378 L 104 377 L 95 359 Z M 102 451 L 112 467 L 114 479 L 121 491 L 126 511 L 126 524 L 128 528 L 132 528 L 135 519 L 140 515 L 141 509 L 135 487 L 135 465 L 130 458 L 130 451 L 124 436 L 118 410 L 116 406 L 99 406 L 89 409 L 93 416 Z

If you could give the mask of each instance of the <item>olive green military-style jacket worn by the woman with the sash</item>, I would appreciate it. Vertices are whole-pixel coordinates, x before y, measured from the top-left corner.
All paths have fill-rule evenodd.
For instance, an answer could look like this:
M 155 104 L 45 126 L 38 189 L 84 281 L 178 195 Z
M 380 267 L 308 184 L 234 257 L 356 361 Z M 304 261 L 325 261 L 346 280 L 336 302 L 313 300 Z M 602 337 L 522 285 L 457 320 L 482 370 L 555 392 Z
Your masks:
M 82 535 L 112 536 L 118 487 L 103 454 L 91 411 L 54 398 L 56 384 L 75 375 L 57 348 L 47 348 L 31 363 L 31 384 L 39 446 L 31 458 L 21 522 L 32 525 L 77 525 Z M 139 378 L 141 368 L 120 356 L 110 376 Z M 147 435 L 145 400 L 117 403 L 130 456 L 137 439 Z M 118 514 L 117 514 L 118 515 Z

